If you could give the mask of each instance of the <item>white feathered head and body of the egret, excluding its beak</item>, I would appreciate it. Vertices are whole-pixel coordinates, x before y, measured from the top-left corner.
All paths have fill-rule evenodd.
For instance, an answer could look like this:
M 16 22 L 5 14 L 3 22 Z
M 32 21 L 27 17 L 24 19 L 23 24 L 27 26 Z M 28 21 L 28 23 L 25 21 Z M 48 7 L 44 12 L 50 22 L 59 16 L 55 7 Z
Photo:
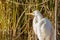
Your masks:
M 43 18 L 38 10 L 33 12 L 33 30 L 39 40 L 54 40 L 54 28 L 47 18 Z

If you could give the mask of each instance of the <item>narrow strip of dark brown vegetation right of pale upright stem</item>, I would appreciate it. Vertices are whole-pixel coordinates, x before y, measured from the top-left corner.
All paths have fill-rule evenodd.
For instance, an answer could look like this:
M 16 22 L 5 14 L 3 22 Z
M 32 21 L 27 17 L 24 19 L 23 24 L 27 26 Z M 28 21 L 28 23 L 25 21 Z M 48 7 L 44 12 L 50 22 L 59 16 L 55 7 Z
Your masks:
M 60 40 L 60 0 L 57 1 L 57 27 L 56 27 L 56 34 L 57 34 L 57 40 Z

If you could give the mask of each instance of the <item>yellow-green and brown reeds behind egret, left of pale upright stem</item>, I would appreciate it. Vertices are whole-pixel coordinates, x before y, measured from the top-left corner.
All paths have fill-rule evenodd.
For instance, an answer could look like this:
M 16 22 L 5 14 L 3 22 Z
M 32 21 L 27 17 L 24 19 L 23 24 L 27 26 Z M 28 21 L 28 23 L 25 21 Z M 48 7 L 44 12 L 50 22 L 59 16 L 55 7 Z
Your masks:
M 26 15 L 34 10 L 50 19 L 55 28 L 54 0 L 0 0 L 0 39 L 36 40 L 33 16 Z

